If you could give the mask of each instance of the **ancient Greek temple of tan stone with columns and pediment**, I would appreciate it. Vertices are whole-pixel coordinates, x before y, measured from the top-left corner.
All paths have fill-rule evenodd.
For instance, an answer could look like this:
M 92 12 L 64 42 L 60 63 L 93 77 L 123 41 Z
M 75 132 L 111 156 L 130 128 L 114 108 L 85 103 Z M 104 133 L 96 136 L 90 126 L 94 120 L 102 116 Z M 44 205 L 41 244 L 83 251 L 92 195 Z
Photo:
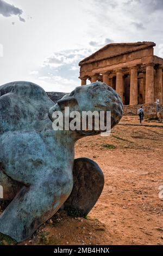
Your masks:
M 103 81 L 122 97 L 124 105 L 162 104 L 163 59 L 154 42 L 108 44 L 80 63 L 82 86 Z

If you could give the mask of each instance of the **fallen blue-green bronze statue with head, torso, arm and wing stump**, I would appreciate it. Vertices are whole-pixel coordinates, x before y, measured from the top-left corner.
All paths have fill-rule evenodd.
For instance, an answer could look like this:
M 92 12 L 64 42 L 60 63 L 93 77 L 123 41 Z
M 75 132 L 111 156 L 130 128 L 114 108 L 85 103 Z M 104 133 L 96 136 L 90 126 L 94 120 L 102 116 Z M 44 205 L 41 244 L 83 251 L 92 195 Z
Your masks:
M 102 192 L 104 178 L 96 163 L 79 159 L 74 164 L 76 141 L 99 131 L 54 131 L 53 111 L 65 106 L 70 112 L 111 111 L 111 127 L 120 121 L 123 111 L 121 97 L 101 82 L 77 87 L 55 105 L 34 83 L 12 82 L 0 87 L 0 185 L 3 199 L 13 199 L 0 216 L 0 233 L 17 242 L 30 237 L 63 205 L 86 215 Z M 92 175 L 89 180 L 86 172 L 82 175 L 84 169 Z M 74 170 L 78 170 L 77 176 Z

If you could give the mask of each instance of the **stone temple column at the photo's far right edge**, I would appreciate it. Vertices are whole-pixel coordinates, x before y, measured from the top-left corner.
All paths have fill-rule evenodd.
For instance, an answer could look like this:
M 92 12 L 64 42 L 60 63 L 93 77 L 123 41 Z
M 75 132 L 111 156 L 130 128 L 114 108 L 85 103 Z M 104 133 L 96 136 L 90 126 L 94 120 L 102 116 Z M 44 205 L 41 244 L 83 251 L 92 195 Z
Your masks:
M 162 66 L 158 66 L 158 68 L 156 69 L 156 84 L 155 84 L 155 90 L 156 90 L 156 95 L 155 95 L 155 99 L 159 99 L 159 103 L 162 104 Z

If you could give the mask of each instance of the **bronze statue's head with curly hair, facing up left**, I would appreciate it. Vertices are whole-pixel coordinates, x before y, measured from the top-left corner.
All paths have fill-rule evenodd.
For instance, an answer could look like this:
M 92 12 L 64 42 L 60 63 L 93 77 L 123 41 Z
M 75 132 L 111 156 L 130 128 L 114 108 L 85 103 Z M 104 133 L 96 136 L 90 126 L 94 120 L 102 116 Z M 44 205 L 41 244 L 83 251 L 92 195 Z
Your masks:
M 106 118 L 106 112 L 110 111 L 111 128 L 118 124 L 123 113 L 123 104 L 121 97 L 114 89 L 102 82 L 95 82 L 87 86 L 76 87 L 76 89 L 74 89 L 70 94 L 66 94 L 64 97 L 62 97 L 61 100 L 57 102 L 57 104 L 49 109 L 49 118 L 54 121 L 53 113 L 55 111 L 64 112 L 65 107 L 70 108 L 70 113 L 72 111 L 78 111 L 81 117 L 83 111 L 97 111 L 98 113 L 103 111 Z M 101 130 L 95 129 L 95 123 L 93 123 L 91 131 L 88 131 L 87 129 L 82 130 L 81 128 L 81 130 L 77 132 L 81 135 L 95 135 L 101 132 Z

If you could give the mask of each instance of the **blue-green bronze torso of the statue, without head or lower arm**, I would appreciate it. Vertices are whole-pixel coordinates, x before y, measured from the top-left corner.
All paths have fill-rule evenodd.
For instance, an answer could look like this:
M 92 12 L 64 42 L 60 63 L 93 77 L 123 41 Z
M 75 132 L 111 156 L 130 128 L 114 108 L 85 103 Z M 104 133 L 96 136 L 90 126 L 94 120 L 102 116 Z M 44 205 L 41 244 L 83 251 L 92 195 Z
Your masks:
M 53 131 L 48 111 L 54 105 L 33 83 L 14 82 L 0 88 L 0 163 L 12 180 L 36 183 L 47 173 L 70 180 L 74 143 L 64 131 Z M 25 169 L 22 170 L 25 167 Z

